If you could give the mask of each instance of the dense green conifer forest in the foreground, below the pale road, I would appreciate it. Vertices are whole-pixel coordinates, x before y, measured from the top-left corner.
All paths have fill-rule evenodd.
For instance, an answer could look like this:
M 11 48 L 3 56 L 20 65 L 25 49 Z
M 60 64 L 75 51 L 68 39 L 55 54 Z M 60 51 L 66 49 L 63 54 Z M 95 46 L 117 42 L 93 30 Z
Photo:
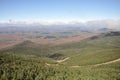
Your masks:
M 0 54 L 1 80 L 119 80 L 120 61 L 98 67 L 48 66 L 45 60 Z

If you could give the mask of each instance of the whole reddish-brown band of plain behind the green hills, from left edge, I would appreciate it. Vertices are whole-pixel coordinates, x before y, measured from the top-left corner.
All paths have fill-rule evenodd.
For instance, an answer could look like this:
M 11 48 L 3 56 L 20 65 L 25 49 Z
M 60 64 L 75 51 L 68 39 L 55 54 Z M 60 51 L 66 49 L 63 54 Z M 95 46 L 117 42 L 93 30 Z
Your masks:
M 69 38 L 61 38 L 61 39 L 40 39 L 40 38 L 26 38 L 21 35 L 0 35 L 0 49 L 6 48 L 10 46 L 14 46 L 18 44 L 19 42 L 29 40 L 37 44 L 50 44 L 50 45 L 60 45 L 60 44 L 68 44 L 72 42 L 79 42 L 81 40 L 90 38 L 95 36 L 96 34 L 88 34 L 88 35 L 82 35 L 82 36 L 73 36 Z

